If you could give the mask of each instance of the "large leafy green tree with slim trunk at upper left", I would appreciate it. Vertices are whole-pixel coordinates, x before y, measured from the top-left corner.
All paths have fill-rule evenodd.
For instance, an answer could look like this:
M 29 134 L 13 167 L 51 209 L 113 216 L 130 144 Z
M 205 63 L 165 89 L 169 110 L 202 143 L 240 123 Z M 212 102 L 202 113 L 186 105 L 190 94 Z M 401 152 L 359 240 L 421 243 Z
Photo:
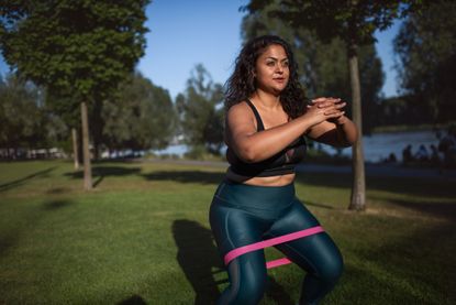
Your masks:
M 55 95 L 80 101 L 85 189 L 91 189 L 89 112 L 133 70 L 144 53 L 147 0 L 1 1 L 7 63 Z

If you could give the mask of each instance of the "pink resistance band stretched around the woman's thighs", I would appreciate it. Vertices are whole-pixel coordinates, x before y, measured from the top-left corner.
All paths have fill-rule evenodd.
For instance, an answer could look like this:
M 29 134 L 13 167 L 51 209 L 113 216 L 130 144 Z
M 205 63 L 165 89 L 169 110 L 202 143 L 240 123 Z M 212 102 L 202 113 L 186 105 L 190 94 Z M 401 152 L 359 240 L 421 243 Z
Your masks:
M 268 248 L 271 246 L 276 246 L 279 243 L 283 243 L 287 241 L 291 241 L 298 238 L 303 238 L 307 236 L 312 236 L 312 235 L 316 235 L 320 232 L 323 232 L 323 228 L 321 226 L 316 226 L 316 227 L 312 227 L 305 230 L 301 230 L 301 231 L 297 231 L 297 232 L 292 232 L 289 235 L 285 235 L 285 236 L 279 236 L 279 237 L 275 237 L 271 239 L 267 239 L 264 241 L 258 241 L 258 242 L 254 242 L 247 246 L 243 246 L 236 249 L 231 250 L 230 252 L 226 253 L 226 255 L 224 257 L 224 261 L 225 261 L 225 265 L 227 265 L 232 260 L 234 260 L 235 258 L 252 252 L 252 251 L 256 251 L 256 250 L 260 250 L 264 248 Z M 267 269 L 271 269 L 271 268 L 276 268 L 282 264 L 289 264 L 291 263 L 291 261 L 287 258 L 283 259 L 278 259 L 278 260 L 274 260 L 274 261 L 269 261 L 266 263 L 266 268 Z

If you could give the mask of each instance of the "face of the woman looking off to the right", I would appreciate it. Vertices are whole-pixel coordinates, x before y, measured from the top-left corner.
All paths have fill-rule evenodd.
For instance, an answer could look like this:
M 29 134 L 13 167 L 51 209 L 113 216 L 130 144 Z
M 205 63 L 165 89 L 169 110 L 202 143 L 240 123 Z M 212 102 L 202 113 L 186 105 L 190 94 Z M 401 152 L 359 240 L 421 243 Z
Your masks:
M 256 61 L 255 80 L 257 88 L 280 94 L 287 87 L 290 68 L 287 53 L 279 44 L 271 44 Z

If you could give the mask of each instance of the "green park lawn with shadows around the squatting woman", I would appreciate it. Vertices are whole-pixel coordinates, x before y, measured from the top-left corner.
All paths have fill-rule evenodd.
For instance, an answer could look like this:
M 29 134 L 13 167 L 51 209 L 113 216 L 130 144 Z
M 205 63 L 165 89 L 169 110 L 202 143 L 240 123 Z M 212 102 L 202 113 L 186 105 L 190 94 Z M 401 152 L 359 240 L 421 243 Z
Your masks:
M 208 209 L 223 170 L 100 163 L 85 193 L 70 163 L 0 163 L 0 304 L 214 303 L 227 276 Z M 455 304 L 455 185 L 372 177 L 368 210 L 351 213 L 349 176 L 300 174 L 345 260 L 323 304 Z M 294 304 L 302 275 L 270 270 L 262 304 Z

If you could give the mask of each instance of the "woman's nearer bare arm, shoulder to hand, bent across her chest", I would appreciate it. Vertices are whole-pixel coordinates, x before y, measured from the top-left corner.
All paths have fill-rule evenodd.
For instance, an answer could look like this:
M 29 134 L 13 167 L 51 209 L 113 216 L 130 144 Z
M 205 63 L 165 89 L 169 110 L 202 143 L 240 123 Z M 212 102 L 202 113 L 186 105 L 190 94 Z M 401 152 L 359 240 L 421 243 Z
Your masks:
M 252 109 L 240 102 L 230 108 L 226 115 L 227 144 L 244 162 L 254 163 L 266 160 L 282 151 L 313 126 L 341 116 L 334 104 L 310 106 L 307 112 L 287 123 L 256 131 Z

